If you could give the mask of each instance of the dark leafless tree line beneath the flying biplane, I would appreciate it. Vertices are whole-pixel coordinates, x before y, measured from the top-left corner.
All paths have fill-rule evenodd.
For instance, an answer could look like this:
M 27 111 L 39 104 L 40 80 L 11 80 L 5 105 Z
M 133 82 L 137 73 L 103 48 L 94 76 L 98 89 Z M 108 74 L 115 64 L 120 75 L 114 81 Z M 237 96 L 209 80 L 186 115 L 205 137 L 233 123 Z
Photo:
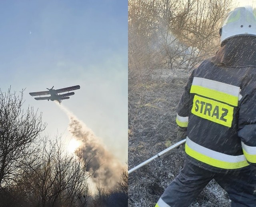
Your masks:
M 126 206 L 126 170 L 111 191 L 99 187 L 104 200 L 93 197 L 86 171 L 93 157 L 67 153 L 60 137 L 41 137 L 42 114 L 22 109 L 23 103 L 23 91 L 18 96 L 0 90 L 0 207 L 103 207 L 115 193 Z

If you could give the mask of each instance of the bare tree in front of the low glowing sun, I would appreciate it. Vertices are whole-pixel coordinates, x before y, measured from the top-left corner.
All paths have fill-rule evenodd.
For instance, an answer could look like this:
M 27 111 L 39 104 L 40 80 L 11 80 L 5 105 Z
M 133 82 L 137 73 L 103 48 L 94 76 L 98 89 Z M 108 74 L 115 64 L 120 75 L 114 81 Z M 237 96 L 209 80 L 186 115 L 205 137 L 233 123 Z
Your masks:
M 24 173 L 23 189 L 28 206 L 86 206 L 88 201 L 86 163 L 67 154 L 58 140 L 44 139 L 35 165 Z

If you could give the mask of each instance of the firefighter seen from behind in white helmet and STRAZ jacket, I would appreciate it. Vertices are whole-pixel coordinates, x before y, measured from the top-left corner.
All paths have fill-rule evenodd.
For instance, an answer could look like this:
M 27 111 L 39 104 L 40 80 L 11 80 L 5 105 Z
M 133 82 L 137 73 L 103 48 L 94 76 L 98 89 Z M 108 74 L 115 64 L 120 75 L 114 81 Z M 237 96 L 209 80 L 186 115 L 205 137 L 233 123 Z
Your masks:
M 232 207 L 256 207 L 256 16 L 235 8 L 220 29 L 221 47 L 185 86 L 177 109 L 186 138 L 180 174 L 156 207 L 189 206 L 212 180 Z

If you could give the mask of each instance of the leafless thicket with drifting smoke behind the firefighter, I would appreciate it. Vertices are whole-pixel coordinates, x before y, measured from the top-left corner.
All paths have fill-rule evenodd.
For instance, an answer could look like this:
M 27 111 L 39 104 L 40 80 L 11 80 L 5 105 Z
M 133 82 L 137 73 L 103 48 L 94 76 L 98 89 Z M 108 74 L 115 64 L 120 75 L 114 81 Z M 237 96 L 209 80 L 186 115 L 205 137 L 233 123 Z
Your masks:
M 128 67 L 140 79 L 154 68 L 191 69 L 219 47 L 231 0 L 128 0 Z

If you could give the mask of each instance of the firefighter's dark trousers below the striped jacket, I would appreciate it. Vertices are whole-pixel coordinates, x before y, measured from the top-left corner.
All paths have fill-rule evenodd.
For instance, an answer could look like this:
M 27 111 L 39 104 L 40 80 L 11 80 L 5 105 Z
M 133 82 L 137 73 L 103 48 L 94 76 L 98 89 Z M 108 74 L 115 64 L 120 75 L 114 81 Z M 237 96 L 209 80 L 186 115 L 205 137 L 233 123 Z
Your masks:
M 190 163 L 188 159 L 156 207 L 187 207 L 212 179 L 226 190 L 231 207 L 256 207 L 256 177 L 249 166 L 232 172 L 213 173 Z

